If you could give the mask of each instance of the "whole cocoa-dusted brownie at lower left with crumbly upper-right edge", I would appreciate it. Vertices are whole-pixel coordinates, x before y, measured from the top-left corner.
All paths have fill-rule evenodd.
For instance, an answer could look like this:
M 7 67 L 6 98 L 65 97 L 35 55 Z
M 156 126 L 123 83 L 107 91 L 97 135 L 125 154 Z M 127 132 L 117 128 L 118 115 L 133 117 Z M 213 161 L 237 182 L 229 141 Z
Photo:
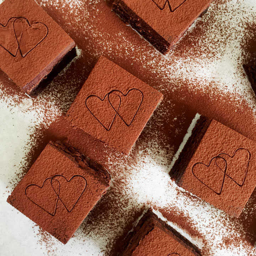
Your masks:
M 68 144 L 50 142 L 7 202 L 66 244 L 111 176 Z

